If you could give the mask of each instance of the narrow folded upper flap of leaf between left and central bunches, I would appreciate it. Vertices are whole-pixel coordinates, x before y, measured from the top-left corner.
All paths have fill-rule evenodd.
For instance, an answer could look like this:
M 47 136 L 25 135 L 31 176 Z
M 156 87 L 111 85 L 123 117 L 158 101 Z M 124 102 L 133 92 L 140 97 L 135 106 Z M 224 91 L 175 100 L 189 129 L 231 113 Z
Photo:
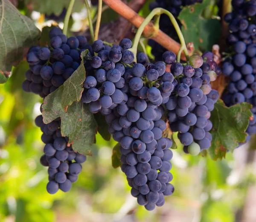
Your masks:
M 84 91 L 83 83 L 85 80 L 84 57 L 88 52 L 88 49 L 82 51 L 81 64 L 63 84 L 64 89 L 61 97 L 61 106 L 65 111 L 67 111 L 68 106 L 72 105 L 73 102 L 81 100 L 82 92 Z

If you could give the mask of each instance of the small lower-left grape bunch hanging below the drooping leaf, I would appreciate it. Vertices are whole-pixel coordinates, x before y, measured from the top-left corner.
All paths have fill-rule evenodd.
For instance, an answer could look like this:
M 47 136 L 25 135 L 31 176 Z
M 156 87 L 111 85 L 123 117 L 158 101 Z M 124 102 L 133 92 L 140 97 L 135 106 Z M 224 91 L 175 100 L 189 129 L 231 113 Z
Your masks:
M 49 182 L 46 187 L 48 193 L 55 194 L 58 189 L 70 191 L 72 183 L 77 181 L 82 169 L 81 163 L 86 161 L 86 156 L 74 152 L 72 146 L 67 146 L 68 137 L 61 136 L 60 118 L 44 124 L 40 115 L 36 117 L 35 124 L 43 132 L 41 139 L 45 146 L 40 162 L 49 167 Z

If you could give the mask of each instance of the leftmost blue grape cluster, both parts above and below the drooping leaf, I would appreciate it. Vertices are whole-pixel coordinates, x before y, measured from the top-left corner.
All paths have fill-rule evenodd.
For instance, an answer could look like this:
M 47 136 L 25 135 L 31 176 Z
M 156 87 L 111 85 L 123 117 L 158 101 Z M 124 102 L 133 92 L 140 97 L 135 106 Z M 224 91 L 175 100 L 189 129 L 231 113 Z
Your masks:
M 73 74 L 81 62 L 81 51 L 90 46 L 85 37 L 67 38 L 59 28 L 52 28 L 49 37 L 49 48 L 35 46 L 29 49 L 29 70 L 26 71 L 26 80 L 22 85 L 24 91 L 31 91 L 41 97 L 55 91 Z M 49 167 L 47 191 L 49 194 L 55 194 L 58 189 L 67 192 L 72 183 L 76 182 L 86 156 L 74 152 L 72 146 L 67 146 L 69 139 L 61 135 L 60 118 L 44 124 L 40 115 L 36 117 L 35 124 L 41 128 L 41 139 L 45 143 L 40 162 Z

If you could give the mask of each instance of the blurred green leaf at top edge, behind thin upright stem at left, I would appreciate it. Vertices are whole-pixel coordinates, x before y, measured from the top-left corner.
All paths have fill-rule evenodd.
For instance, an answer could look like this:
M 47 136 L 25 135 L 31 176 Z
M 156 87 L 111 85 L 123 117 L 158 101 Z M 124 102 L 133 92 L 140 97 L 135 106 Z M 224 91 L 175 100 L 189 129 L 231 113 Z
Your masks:
M 70 0 L 24 0 L 26 7 L 31 11 L 39 11 L 42 14 L 60 15 L 64 8 L 68 8 Z M 84 6 L 83 0 L 76 0 L 73 6 L 73 11 L 81 11 Z

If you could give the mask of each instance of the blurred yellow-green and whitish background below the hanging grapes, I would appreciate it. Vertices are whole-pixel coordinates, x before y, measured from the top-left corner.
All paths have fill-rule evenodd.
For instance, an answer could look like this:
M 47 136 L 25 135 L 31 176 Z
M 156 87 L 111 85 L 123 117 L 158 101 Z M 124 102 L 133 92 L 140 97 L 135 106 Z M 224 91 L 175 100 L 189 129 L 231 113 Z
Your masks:
M 97 134 L 93 156 L 83 164 L 68 193 L 46 191 L 47 168 L 39 159 L 44 144 L 34 118 L 42 99 L 23 92 L 26 62 L 0 85 L 0 222 L 254 222 L 254 151 L 243 146 L 222 161 L 174 150 L 175 193 L 152 212 L 137 205 L 120 168 L 111 165 L 112 148 Z M 178 142 L 176 140 L 176 142 Z

